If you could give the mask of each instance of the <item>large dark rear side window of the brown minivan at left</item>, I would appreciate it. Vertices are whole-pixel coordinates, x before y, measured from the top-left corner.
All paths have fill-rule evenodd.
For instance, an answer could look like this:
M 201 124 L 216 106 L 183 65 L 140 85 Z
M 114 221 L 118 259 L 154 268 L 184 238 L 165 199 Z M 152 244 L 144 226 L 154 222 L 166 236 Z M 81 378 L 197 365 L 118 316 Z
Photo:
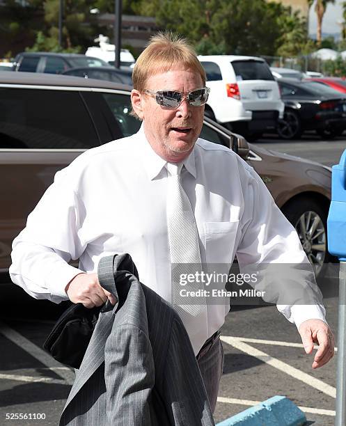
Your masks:
M 0 88 L 0 148 L 96 145 L 97 134 L 77 91 Z

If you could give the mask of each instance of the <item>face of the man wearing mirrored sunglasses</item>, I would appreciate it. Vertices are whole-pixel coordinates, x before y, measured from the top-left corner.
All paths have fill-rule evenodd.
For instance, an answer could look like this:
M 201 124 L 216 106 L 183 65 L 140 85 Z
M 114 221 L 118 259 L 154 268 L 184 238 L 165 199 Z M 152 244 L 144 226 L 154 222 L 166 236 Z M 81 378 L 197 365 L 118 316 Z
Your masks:
M 167 89 L 189 93 L 203 86 L 200 74 L 178 69 L 152 75 L 146 83 L 146 89 L 155 92 Z M 200 134 L 204 106 L 193 107 L 184 99 L 178 108 L 167 109 L 157 104 L 155 96 L 141 93 L 139 97 L 139 115 L 152 149 L 166 161 L 182 161 L 194 148 Z

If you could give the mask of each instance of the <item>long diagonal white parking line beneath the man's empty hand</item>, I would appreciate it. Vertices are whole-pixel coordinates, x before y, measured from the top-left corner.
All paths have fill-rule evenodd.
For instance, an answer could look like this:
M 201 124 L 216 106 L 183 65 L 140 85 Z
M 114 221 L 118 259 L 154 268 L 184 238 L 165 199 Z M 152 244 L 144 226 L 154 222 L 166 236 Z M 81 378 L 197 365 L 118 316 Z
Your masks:
M 324 383 L 324 381 L 316 379 L 310 374 L 306 374 L 305 372 L 302 372 L 301 370 L 298 370 L 297 368 L 294 368 L 291 365 L 266 354 L 265 352 L 259 351 L 258 349 L 247 345 L 247 343 L 242 342 L 241 340 L 239 340 L 239 338 L 221 336 L 221 340 L 227 343 L 228 345 L 235 347 L 239 351 L 242 351 L 250 356 L 254 356 L 260 361 L 267 363 L 268 365 L 272 365 L 272 367 L 276 368 L 277 370 L 281 370 L 285 374 L 289 374 L 290 376 L 294 377 L 294 379 L 303 381 L 304 384 L 307 384 L 308 386 L 320 390 L 321 392 L 325 393 L 326 395 L 329 395 L 332 398 L 336 398 L 336 388 L 334 388 L 333 386 L 330 386 L 329 384 Z

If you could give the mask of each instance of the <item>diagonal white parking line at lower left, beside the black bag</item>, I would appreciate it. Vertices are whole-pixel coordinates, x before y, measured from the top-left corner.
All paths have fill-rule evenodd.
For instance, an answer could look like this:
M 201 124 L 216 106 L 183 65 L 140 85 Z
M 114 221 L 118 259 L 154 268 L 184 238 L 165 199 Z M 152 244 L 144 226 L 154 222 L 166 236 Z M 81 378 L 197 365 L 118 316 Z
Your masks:
M 24 351 L 28 352 L 31 356 L 36 358 L 40 363 L 44 364 L 49 370 L 55 371 L 62 377 L 67 384 L 72 385 L 74 381 L 74 371 L 71 368 L 64 367 L 58 361 L 55 361 L 52 356 L 47 354 L 43 349 L 36 346 L 33 342 L 26 339 L 22 334 L 11 329 L 8 325 L 0 321 L 0 333 L 3 334 L 8 340 L 15 343 Z

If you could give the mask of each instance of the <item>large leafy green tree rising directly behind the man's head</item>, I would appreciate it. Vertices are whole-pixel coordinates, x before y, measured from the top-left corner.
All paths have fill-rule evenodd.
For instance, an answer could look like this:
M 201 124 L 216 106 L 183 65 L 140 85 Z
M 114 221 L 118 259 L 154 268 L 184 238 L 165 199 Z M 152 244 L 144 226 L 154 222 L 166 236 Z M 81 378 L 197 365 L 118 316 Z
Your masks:
M 137 6 L 160 27 L 189 38 L 199 52 L 271 55 L 281 35 L 277 16 L 283 6 L 265 0 L 153 0 Z

